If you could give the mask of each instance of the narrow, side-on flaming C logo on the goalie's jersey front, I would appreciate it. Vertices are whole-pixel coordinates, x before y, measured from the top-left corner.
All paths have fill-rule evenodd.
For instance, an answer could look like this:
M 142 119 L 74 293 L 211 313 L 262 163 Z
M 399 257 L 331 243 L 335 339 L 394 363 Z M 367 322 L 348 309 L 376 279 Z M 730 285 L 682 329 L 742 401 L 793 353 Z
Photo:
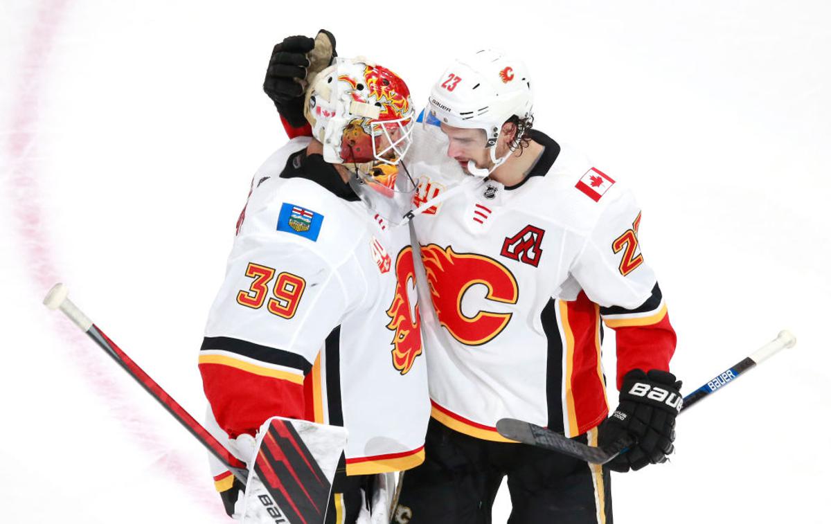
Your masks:
M 392 299 L 386 316 L 391 321 L 387 329 L 395 331 L 392 337 L 392 365 L 406 375 L 413 367 L 416 357 L 421 355 L 421 331 L 418 304 L 410 306 L 410 297 L 407 295 L 408 284 L 416 283 L 416 268 L 413 264 L 412 247 L 401 249 L 396 258 L 396 296 Z

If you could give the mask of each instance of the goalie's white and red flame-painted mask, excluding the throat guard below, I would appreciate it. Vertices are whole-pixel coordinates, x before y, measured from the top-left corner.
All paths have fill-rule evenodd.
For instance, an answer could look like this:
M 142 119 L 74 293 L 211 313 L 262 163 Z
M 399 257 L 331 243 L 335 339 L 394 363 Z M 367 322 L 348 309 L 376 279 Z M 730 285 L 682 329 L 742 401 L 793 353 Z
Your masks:
M 363 57 L 338 57 L 318 73 L 304 112 L 330 164 L 396 165 L 412 143 L 416 111 L 409 88 Z

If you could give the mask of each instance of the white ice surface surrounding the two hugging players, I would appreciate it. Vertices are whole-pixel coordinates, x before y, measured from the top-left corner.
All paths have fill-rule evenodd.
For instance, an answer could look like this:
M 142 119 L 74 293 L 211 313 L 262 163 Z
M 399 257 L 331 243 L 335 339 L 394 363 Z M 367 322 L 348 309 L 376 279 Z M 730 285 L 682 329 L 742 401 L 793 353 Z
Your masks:
M 288 3 L 2 2 L 2 522 L 226 522 L 192 438 L 41 300 L 66 282 L 201 414 L 205 316 L 285 140 L 264 68 L 318 27 L 419 105 L 457 52 L 525 53 L 535 126 L 637 189 L 686 390 L 797 335 L 614 477 L 617 522 L 828 521 L 828 2 Z

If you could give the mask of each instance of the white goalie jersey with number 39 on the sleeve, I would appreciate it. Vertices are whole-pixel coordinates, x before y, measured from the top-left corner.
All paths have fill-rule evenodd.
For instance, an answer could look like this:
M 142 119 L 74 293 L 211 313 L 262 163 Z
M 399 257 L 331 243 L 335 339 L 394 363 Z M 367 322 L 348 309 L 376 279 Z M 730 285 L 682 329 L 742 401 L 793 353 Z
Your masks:
M 410 234 L 306 157 L 308 141 L 253 179 L 205 328 L 205 394 L 230 438 L 307 419 L 347 429 L 347 474 L 412 468 L 430 402 Z

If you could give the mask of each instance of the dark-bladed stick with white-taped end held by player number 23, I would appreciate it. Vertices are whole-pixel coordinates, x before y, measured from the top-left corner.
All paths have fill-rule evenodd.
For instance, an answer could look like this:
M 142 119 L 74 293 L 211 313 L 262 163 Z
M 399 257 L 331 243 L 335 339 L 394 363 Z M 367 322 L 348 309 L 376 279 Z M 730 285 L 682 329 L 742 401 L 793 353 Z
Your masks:
M 713 380 L 702 385 L 691 394 L 686 395 L 681 406 L 681 411 L 683 412 L 690 406 L 697 404 L 706 396 L 715 393 L 725 385 L 739 378 L 742 373 L 769 359 L 771 355 L 774 355 L 778 351 L 784 348 L 794 347 L 794 344 L 796 344 L 796 338 L 790 331 L 780 331 L 774 340 L 763 345 L 755 353 L 740 360 L 740 362 L 725 370 L 723 373 L 716 375 Z M 510 438 L 521 443 L 564 453 L 570 457 L 579 458 L 593 464 L 605 464 L 635 443 L 633 438 L 624 434 L 613 443 L 609 443 L 602 448 L 595 448 L 578 442 L 577 440 L 567 438 L 561 433 L 517 419 L 499 419 L 496 423 L 496 429 L 504 438 Z

